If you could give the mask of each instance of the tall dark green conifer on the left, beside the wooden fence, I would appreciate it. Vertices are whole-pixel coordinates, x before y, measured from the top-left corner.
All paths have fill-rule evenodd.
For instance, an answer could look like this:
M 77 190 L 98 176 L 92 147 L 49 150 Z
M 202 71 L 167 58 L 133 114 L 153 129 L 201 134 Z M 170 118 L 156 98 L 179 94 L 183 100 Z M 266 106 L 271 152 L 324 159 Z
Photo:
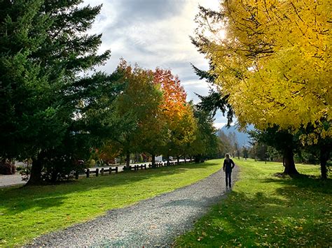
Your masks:
M 51 156 L 88 148 L 87 115 L 101 92 L 116 91 L 103 73 L 83 76 L 109 58 L 101 35 L 88 35 L 101 6 L 82 1 L 1 1 L 0 108 L 2 158 L 30 157 L 29 184 L 41 182 Z M 81 76 L 80 76 L 81 75 Z M 85 126 L 82 126 L 85 124 Z M 89 124 L 90 125 L 90 124 Z M 90 126 L 91 127 L 91 126 Z M 55 152 L 57 151 L 57 152 Z M 60 154 L 59 154 L 60 153 Z M 56 154 L 56 155 L 54 155 Z M 67 161 L 73 161 L 68 156 Z

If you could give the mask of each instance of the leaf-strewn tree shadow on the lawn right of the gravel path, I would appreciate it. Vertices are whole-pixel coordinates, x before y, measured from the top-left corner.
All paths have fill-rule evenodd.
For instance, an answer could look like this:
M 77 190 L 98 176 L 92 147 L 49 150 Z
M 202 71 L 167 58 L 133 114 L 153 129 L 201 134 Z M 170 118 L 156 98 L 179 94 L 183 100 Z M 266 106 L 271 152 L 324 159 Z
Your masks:
M 232 191 L 175 245 L 195 246 L 197 240 L 209 247 L 331 245 L 331 236 L 326 233 L 326 218 L 331 218 L 326 199 L 322 195 L 312 198 L 312 189 L 299 195 L 297 191 L 304 190 L 284 184 L 275 196 L 258 191 L 248 197 Z

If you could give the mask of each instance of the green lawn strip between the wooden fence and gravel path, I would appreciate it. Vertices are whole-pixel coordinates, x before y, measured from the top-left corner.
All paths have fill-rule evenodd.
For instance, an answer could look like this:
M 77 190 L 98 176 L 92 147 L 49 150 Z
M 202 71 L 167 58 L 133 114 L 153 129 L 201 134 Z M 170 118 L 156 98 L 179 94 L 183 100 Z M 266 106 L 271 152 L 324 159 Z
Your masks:
M 220 160 L 90 177 L 43 187 L 0 189 L 0 246 L 87 221 L 106 210 L 173 191 L 221 168 Z

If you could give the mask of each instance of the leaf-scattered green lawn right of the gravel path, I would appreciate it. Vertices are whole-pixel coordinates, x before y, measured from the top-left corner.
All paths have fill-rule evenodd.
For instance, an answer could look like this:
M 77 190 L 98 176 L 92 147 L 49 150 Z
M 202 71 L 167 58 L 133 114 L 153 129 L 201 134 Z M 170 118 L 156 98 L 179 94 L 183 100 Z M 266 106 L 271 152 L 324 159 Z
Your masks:
M 332 180 L 319 166 L 297 165 L 298 178 L 275 177 L 280 163 L 237 160 L 240 181 L 228 198 L 177 238 L 186 247 L 332 246 Z

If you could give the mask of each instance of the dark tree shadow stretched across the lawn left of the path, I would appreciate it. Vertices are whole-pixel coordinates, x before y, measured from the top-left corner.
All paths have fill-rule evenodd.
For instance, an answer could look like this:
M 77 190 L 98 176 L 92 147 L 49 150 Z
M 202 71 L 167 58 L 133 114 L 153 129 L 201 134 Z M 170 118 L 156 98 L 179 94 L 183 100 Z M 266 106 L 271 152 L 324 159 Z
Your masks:
M 66 198 L 72 197 L 70 194 L 76 192 L 90 191 L 94 189 L 123 186 L 141 180 L 148 180 L 155 177 L 165 177 L 168 175 L 181 174 L 190 168 L 207 168 L 216 163 L 181 164 L 163 168 L 148 170 L 127 171 L 113 175 L 83 178 L 78 181 L 66 182 L 64 184 L 47 186 L 11 187 L 0 189 L 1 207 L 5 211 L 2 214 L 13 215 L 29 209 L 46 210 L 49 207 L 62 205 Z M 93 196 L 91 196 L 93 200 Z

